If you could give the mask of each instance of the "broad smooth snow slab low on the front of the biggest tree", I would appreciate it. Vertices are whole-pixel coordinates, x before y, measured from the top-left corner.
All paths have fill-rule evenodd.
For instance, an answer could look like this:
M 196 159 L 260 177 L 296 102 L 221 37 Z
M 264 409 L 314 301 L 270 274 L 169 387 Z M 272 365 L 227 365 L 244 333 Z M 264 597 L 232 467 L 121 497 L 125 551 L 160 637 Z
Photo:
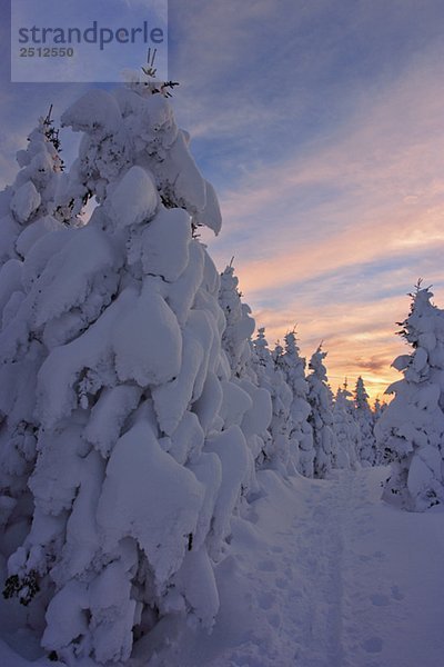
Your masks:
M 203 496 L 195 476 L 165 454 L 150 425 L 140 421 L 118 440 L 107 466 L 98 507 L 104 544 L 111 548 L 133 537 L 161 585 L 182 563 Z

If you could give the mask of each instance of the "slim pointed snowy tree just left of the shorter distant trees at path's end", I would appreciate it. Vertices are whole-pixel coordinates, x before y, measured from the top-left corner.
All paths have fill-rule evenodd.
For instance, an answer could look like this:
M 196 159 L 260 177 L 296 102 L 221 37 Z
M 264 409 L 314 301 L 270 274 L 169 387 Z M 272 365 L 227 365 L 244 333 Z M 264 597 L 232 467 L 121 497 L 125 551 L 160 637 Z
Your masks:
M 333 414 L 327 386 L 327 375 L 323 360 L 326 357 L 321 346 L 310 359 L 309 374 L 309 402 L 311 414 L 309 424 L 313 429 L 314 445 L 314 476 L 324 478 L 333 467 L 337 442 L 333 431 Z

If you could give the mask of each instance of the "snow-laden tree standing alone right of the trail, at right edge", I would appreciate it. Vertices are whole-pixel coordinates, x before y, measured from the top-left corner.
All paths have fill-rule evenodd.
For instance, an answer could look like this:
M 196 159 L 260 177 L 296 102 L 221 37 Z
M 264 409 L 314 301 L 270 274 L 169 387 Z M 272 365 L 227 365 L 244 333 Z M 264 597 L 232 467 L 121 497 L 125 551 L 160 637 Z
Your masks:
M 417 283 L 401 336 L 413 347 L 393 367 L 404 378 L 386 390 L 393 400 L 375 426 L 377 444 L 391 462 L 384 499 L 411 511 L 444 501 L 444 312 Z

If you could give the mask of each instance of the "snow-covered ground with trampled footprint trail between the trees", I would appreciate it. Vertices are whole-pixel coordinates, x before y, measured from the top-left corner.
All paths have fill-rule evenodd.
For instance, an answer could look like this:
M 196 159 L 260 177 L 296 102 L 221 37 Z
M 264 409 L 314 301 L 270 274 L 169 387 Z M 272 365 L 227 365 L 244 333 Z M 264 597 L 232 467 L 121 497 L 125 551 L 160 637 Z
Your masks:
M 150 667 L 442 667 L 444 512 L 383 505 L 385 474 L 262 474 L 238 564 L 219 567 L 213 634 L 182 630 Z

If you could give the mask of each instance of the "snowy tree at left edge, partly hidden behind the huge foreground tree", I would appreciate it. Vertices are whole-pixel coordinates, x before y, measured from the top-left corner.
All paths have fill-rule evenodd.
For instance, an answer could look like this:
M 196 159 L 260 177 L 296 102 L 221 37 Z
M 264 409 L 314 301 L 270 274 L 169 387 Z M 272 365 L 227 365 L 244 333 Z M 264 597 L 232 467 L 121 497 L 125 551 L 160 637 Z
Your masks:
M 30 336 L 23 311 L 34 276 L 52 252 L 48 246 L 48 255 L 39 261 L 34 249 L 51 232 L 58 231 L 58 239 L 69 235 L 52 217 L 63 168 L 59 148 L 48 113 L 30 133 L 27 149 L 17 153 L 21 169 L 13 185 L 0 193 L 0 330 L 8 330 L 2 338 L 9 339 L 9 347 L 20 330 L 18 345 L 27 349 L 26 355 L 7 354 L 0 365 L 0 545 L 8 545 L 7 554 L 29 528 L 32 515 L 28 480 L 36 458 L 36 381 L 46 348 Z M 12 336 L 11 320 L 16 322 Z

